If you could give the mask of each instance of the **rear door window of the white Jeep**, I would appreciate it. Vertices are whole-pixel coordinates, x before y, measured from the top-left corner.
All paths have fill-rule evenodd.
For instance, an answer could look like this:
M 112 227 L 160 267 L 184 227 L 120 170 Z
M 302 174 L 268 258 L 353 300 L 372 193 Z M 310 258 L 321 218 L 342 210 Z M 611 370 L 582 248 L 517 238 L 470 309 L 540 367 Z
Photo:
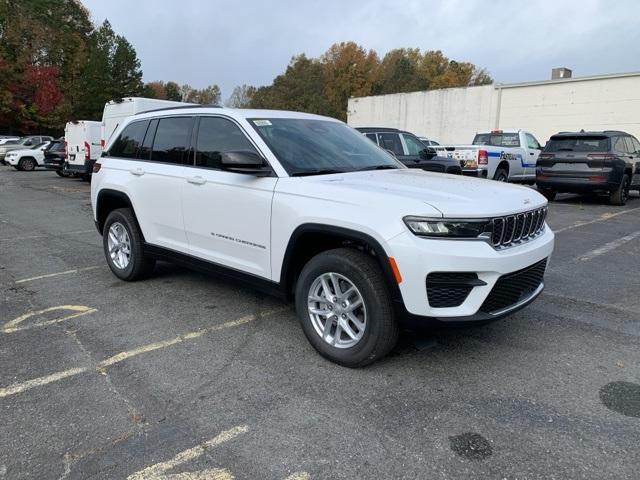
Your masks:
M 183 165 L 191 143 L 191 117 L 161 118 L 158 122 L 151 159 L 154 162 Z

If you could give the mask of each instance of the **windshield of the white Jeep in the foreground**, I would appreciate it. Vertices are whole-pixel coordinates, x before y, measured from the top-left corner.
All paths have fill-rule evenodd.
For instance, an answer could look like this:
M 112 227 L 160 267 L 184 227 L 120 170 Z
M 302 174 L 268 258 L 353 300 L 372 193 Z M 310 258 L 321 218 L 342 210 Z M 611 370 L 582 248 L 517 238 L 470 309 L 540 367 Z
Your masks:
M 289 175 L 403 168 L 371 140 L 328 120 L 249 119 Z

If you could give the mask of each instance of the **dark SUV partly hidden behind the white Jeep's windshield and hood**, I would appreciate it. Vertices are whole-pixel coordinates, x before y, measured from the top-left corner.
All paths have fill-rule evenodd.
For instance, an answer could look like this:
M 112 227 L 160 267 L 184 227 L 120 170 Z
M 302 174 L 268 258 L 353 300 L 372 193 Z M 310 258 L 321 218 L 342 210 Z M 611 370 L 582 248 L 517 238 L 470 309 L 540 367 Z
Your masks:
M 392 152 L 398 160 L 409 168 L 420 168 L 429 172 L 462 174 L 459 160 L 440 157 L 427 147 L 413 133 L 397 128 L 366 127 L 356 128 L 378 146 Z

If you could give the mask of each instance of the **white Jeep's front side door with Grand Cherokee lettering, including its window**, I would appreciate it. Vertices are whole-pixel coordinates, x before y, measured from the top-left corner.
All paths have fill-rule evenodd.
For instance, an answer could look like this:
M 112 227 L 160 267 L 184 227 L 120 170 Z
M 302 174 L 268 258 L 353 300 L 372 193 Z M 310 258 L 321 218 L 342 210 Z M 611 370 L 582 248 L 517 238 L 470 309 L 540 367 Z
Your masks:
M 184 225 L 196 257 L 271 279 L 271 203 L 277 177 L 224 170 L 221 154 L 259 153 L 242 128 L 220 116 L 196 127 L 195 166 L 184 182 Z

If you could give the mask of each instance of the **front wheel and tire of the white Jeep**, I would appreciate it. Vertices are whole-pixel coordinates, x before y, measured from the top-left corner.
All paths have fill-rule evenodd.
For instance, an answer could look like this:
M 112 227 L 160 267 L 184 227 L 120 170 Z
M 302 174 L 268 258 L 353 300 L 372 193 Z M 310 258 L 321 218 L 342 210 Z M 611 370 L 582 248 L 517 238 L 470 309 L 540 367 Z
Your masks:
M 350 289 L 349 284 L 355 288 L 353 293 L 343 299 L 344 302 L 339 298 L 335 302 L 313 302 L 313 308 L 317 311 L 331 311 L 328 316 L 310 312 L 310 295 L 326 298 L 321 281 L 323 276 L 332 276 L 337 280 L 342 293 Z M 325 280 L 326 285 L 331 283 L 330 279 Z M 334 285 L 335 283 L 331 283 L 328 286 L 330 295 L 336 293 Z M 348 303 L 356 303 L 358 297 L 362 300 L 362 306 L 353 309 L 351 313 L 345 313 L 350 308 Z M 334 297 L 330 298 L 333 300 Z M 358 250 L 337 248 L 322 252 L 309 260 L 298 278 L 295 302 L 302 330 L 311 345 L 320 355 L 339 365 L 358 368 L 373 363 L 389 353 L 398 340 L 398 324 L 382 270 L 374 258 Z M 351 320 L 351 315 L 364 324 L 364 328 L 359 329 Z M 331 325 L 325 340 L 322 330 L 327 333 L 326 325 L 329 321 Z M 357 340 L 343 329 L 342 325 L 345 323 L 351 333 L 356 333 L 359 337 Z

